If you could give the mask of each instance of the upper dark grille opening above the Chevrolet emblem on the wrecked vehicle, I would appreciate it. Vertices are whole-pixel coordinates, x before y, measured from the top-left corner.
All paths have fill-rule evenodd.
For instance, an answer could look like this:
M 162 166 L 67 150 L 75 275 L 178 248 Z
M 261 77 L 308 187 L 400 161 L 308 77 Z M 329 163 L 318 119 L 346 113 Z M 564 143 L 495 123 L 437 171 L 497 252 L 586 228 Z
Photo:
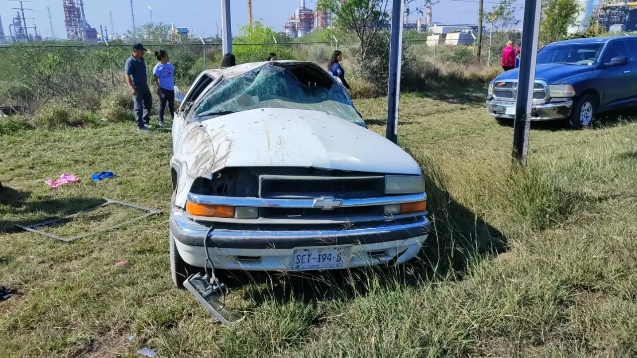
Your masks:
M 384 192 L 383 176 L 259 176 L 259 196 L 263 198 L 350 199 L 383 196 Z

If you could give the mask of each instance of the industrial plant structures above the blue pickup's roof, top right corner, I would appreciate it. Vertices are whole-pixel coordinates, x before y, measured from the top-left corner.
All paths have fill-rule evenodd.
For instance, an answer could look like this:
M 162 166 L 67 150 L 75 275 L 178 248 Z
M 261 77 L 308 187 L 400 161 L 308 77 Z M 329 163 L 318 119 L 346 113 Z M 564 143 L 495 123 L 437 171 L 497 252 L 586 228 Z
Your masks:
M 592 0 L 589 6 L 592 10 Z M 590 12 L 588 15 L 590 17 Z M 637 31 L 637 1 L 600 0 L 592 11 L 592 18 L 608 31 Z

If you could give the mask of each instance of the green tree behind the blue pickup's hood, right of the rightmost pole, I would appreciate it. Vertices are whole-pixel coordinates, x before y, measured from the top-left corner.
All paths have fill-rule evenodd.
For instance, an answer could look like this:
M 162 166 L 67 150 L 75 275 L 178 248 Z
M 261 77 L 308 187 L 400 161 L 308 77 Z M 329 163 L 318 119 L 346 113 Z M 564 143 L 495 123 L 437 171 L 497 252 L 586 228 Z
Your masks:
M 577 0 L 544 0 L 540 23 L 540 43 L 568 38 L 568 28 L 577 23 L 582 6 Z

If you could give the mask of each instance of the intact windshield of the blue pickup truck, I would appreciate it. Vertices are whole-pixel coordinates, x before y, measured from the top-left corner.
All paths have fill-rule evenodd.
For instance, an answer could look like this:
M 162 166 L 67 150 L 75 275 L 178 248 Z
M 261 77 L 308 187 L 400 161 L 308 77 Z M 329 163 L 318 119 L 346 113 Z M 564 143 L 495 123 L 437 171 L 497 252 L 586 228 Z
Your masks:
M 538 52 L 538 64 L 580 64 L 590 66 L 597 62 L 603 43 L 548 45 Z

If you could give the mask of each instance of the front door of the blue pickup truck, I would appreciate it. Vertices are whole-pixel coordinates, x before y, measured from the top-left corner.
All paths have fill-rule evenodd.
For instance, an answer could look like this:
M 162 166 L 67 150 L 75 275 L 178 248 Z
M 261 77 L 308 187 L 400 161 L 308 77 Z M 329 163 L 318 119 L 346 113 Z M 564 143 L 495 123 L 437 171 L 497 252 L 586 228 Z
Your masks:
M 633 97 L 633 90 L 628 86 L 632 73 L 629 62 L 613 64 L 613 59 L 626 58 L 623 41 L 612 41 L 606 45 L 601 57 L 600 83 L 603 89 L 602 103 L 605 106 L 617 106 Z M 632 83 L 631 83 L 632 85 Z

